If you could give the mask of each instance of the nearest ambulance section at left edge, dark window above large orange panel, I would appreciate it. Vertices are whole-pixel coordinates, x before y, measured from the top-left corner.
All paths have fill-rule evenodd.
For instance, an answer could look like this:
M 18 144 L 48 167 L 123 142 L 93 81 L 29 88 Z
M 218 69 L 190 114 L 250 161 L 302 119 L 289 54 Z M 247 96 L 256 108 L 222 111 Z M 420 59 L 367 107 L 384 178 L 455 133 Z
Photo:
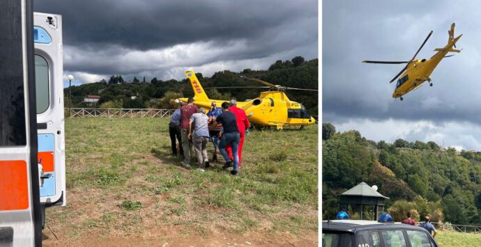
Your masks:
M 32 2 L 0 16 L 0 246 L 41 246 Z

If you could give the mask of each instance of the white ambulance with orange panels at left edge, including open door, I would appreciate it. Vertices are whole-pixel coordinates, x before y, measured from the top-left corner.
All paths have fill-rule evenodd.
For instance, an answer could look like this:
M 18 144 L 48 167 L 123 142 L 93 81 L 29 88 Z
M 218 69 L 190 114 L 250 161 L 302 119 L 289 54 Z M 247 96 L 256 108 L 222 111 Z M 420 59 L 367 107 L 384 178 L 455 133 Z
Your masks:
M 45 207 L 66 205 L 61 16 L 0 16 L 0 247 L 41 246 Z

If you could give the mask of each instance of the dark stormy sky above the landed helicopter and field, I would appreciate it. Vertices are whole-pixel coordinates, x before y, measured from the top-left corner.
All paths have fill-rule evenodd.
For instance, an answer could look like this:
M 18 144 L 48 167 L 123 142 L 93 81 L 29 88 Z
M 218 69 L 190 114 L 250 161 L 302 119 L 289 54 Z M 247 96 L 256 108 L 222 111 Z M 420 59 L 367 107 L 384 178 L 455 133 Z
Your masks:
M 112 74 L 183 79 L 185 70 L 267 69 L 318 57 L 318 3 L 232 0 L 36 0 L 63 16 L 64 72 L 75 83 Z

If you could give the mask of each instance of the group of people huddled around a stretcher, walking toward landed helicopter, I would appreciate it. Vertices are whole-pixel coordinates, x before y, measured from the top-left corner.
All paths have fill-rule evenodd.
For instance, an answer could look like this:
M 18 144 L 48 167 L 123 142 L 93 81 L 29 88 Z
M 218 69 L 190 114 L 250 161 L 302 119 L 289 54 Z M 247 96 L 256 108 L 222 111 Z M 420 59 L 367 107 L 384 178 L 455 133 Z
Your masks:
M 183 103 L 180 109 L 174 111 L 169 122 L 169 135 L 171 139 L 172 154 L 177 155 L 177 150 L 184 157 L 182 165 L 190 168 L 192 145 L 199 168 L 204 171 L 210 166 L 207 155 L 207 143 L 214 145 L 213 160 L 217 159 L 217 146 L 226 163 L 224 170 L 233 168 L 232 175 L 238 175 L 242 163 L 242 149 L 245 134 L 250 127 L 250 122 L 243 109 L 237 107 L 235 98 L 230 102 L 223 102 L 221 109 L 216 102 L 212 102 L 211 109 L 206 113 L 203 107 L 197 108 L 194 99 L 189 98 L 187 104 Z M 247 132 L 248 133 L 248 132 Z M 176 145 L 178 140 L 179 148 Z

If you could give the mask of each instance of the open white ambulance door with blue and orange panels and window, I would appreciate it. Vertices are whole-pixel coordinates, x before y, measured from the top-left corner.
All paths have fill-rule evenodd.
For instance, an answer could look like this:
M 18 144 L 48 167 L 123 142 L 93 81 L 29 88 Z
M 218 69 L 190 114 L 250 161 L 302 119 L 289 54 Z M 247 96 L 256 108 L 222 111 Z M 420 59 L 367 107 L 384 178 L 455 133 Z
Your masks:
M 61 16 L 33 13 L 33 24 L 40 203 L 66 205 Z

